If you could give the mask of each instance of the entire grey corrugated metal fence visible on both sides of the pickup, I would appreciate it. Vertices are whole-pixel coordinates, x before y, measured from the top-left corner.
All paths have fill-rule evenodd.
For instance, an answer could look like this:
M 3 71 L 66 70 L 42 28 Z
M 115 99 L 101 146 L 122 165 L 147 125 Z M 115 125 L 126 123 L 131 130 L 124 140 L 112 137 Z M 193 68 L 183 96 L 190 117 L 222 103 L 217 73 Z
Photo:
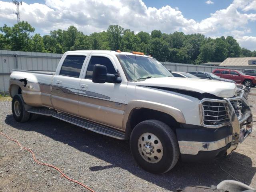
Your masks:
M 62 54 L 0 50 L 0 92 L 8 92 L 12 69 L 55 71 Z M 207 71 L 223 68 L 193 64 L 161 62 L 172 71 Z M 241 69 L 237 69 L 243 71 Z

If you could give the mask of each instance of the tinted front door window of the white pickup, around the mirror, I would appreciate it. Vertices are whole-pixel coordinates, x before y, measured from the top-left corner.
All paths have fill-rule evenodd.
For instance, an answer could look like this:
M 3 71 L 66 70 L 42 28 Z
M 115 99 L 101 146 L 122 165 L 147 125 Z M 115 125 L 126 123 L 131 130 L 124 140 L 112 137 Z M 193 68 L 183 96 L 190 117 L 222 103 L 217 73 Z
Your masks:
M 110 73 L 110 74 L 116 73 L 116 70 L 109 58 L 102 57 L 102 56 L 92 56 L 91 60 L 89 62 L 88 68 L 87 68 L 87 72 L 86 72 L 86 76 L 85 76 L 86 79 L 92 78 L 93 66 L 96 64 L 106 66 L 107 73 Z

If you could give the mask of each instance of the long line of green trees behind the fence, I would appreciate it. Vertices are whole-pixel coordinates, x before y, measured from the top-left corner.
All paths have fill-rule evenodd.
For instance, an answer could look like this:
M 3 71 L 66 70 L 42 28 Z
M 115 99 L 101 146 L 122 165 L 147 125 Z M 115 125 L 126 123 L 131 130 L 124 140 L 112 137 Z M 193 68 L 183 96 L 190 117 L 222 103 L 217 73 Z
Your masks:
M 70 50 L 121 50 L 150 54 L 159 61 L 200 64 L 222 62 L 227 57 L 255 57 L 256 51 L 241 48 L 232 37 L 210 38 L 203 34 L 160 30 L 138 32 L 110 25 L 106 31 L 85 35 L 70 26 L 67 30 L 53 30 L 49 35 L 34 33 L 28 22 L 0 27 L 0 49 L 29 52 L 64 53 Z

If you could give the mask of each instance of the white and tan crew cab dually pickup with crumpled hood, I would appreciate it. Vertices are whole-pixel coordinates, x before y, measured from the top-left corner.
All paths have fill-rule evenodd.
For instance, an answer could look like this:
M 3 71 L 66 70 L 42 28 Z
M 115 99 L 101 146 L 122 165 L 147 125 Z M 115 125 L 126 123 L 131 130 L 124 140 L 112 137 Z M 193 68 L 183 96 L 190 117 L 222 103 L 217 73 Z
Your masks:
M 52 116 L 120 140 L 136 162 L 162 174 L 178 159 L 231 154 L 252 131 L 244 88 L 234 83 L 174 78 L 139 52 L 70 51 L 56 72 L 12 70 L 16 121 Z

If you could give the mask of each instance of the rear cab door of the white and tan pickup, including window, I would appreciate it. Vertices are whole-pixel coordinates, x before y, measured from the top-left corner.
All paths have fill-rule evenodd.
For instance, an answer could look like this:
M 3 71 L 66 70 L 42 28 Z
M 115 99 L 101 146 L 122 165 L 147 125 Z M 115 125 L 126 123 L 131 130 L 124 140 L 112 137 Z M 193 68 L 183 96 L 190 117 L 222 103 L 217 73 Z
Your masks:
M 52 80 L 51 101 L 56 110 L 78 113 L 78 90 L 86 55 L 67 55 Z

